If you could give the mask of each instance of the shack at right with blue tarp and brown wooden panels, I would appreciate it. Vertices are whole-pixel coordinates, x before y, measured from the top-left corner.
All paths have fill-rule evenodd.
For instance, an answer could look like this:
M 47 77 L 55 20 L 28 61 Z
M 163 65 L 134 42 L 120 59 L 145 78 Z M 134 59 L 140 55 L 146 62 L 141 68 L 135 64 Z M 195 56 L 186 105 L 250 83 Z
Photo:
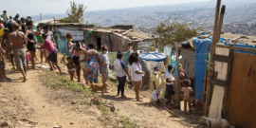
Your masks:
M 256 125 L 252 118 L 256 115 L 252 109 L 256 107 L 253 93 L 256 89 L 256 76 L 253 75 L 256 71 L 256 46 L 251 44 L 253 38 L 248 37 L 243 44 L 225 43 L 226 39 L 222 38 L 220 42 L 224 43 L 215 45 L 214 62 L 209 67 L 214 73 L 210 78 L 205 74 L 207 46 L 209 44 L 210 52 L 211 39 L 192 40 L 195 47 L 195 98 L 202 101 L 205 116 L 210 119 L 228 119 L 231 125 L 247 128 Z

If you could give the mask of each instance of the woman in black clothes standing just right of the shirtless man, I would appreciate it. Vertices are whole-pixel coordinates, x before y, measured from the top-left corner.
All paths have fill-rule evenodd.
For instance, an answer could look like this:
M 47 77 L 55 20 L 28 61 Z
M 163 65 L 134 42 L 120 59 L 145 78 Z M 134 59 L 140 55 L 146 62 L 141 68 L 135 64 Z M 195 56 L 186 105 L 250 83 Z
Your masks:
M 25 36 L 27 37 L 27 50 L 30 53 L 32 69 L 35 70 L 36 39 L 34 33 L 30 30 L 33 27 L 33 21 L 27 21 L 26 26 Z

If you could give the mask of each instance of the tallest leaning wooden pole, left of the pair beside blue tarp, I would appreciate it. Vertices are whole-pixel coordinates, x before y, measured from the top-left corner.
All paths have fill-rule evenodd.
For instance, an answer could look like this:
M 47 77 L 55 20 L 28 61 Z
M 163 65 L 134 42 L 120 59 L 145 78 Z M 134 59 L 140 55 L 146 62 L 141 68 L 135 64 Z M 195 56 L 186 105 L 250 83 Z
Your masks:
M 212 56 L 215 54 L 215 43 L 218 42 L 218 41 L 216 41 L 216 34 L 217 34 L 216 32 L 217 32 L 217 28 L 218 28 L 220 5 L 221 5 L 221 0 L 217 0 L 216 11 L 215 11 L 213 38 L 212 38 L 211 51 L 210 51 L 210 62 L 211 63 L 213 63 Z M 210 65 L 212 65 L 212 64 L 210 64 Z M 208 104 L 210 102 L 210 94 L 212 92 L 212 85 L 210 85 L 210 78 L 213 76 L 213 72 L 214 72 L 214 68 L 213 67 L 212 67 L 212 69 L 209 68 L 209 70 L 208 70 L 208 79 L 207 79 L 206 103 L 205 103 L 205 110 L 204 110 L 205 117 L 208 117 Z

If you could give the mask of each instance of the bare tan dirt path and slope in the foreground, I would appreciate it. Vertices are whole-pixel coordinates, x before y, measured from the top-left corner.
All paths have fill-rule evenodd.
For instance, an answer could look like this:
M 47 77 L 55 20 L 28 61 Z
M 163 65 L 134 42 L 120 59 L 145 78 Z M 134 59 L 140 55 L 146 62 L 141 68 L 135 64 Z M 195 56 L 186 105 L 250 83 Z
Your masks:
M 38 67 L 42 65 L 39 61 L 36 64 Z M 150 102 L 149 90 L 140 91 L 142 102 L 135 101 L 134 91 L 128 88 L 125 90 L 127 99 L 120 99 L 115 97 L 117 85 L 111 82 L 113 83 L 109 85 L 111 92 L 105 94 L 103 101 L 115 105 L 116 116 L 111 112 L 106 115 L 98 105 L 91 104 L 91 98 L 85 98 L 82 92 L 44 85 L 41 78 L 44 76 L 40 74 L 46 70 L 28 70 L 28 81 L 22 82 L 22 74 L 10 68 L 10 64 L 7 64 L 6 72 L 11 82 L 0 83 L 0 127 L 1 125 L 15 128 L 206 127 L 199 122 L 200 114 L 195 111 L 192 116 L 187 116 L 183 111 L 170 109 L 170 105 Z M 63 65 L 62 68 L 66 72 Z M 57 75 L 57 70 L 54 72 Z M 96 95 L 101 98 L 100 92 Z M 125 121 L 125 118 L 131 121 Z

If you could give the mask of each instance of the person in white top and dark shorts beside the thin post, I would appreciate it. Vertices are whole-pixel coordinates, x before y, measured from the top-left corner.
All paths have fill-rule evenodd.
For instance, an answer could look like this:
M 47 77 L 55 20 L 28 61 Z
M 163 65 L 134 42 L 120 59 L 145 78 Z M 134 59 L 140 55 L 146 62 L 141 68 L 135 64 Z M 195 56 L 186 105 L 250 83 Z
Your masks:
M 167 90 L 167 95 L 168 95 L 168 100 L 166 101 L 166 103 L 170 103 L 172 100 L 172 97 L 175 94 L 175 90 L 174 90 L 174 82 L 175 79 L 172 75 L 172 69 L 173 69 L 173 65 L 169 64 L 168 65 L 168 71 L 165 74 L 166 77 L 166 90 Z

